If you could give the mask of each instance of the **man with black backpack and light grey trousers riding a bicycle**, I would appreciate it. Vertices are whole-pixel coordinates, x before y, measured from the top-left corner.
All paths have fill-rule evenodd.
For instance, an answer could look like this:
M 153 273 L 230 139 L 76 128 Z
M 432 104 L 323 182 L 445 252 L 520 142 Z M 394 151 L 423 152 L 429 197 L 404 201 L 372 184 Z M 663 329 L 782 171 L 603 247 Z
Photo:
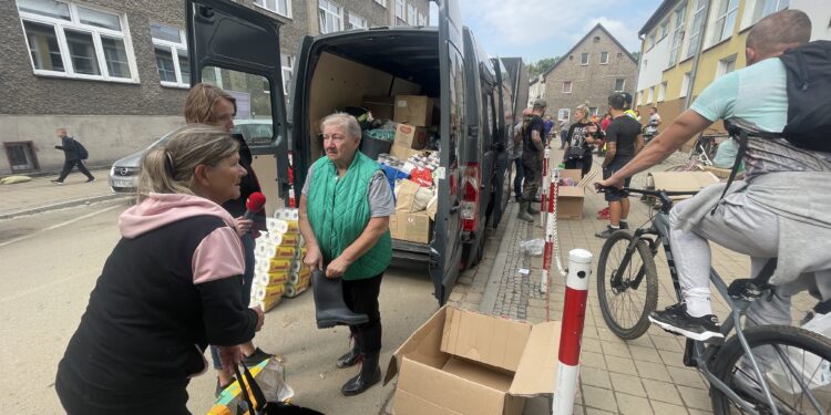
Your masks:
M 747 35 L 748 66 L 714 81 L 630 163 L 597 184 L 620 188 L 719 118 L 739 136 L 733 170 L 743 160 L 745 179 L 711 185 L 670 212 L 684 301 L 649 315 L 667 331 L 724 339 L 710 305 L 708 241 L 750 256 L 751 278 L 777 259 L 769 281 L 776 290 L 751 303 L 750 323 L 790 324 L 791 295 L 802 290 L 831 298 L 831 42 L 809 43 L 810 35 L 811 21 L 800 10 L 760 20 Z

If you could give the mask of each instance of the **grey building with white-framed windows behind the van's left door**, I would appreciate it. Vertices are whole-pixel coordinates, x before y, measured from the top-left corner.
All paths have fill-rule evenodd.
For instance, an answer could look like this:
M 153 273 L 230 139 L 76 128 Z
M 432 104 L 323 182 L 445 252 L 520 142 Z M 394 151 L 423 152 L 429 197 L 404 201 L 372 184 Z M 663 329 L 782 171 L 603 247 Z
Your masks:
M 236 2 L 283 23 L 286 92 L 304 35 L 428 25 L 430 14 L 428 0 Z M 91 166 L 106 166 L 184 123 L 183 1 L 9 0 L 0 2 L 0 175 L 59 169 L 58 127 L 84 144 Z M 232 91 L 249 82 L 227 73 L 203 79 Z M 264 100 L 250 96 L 246 115 L 255 117 Z

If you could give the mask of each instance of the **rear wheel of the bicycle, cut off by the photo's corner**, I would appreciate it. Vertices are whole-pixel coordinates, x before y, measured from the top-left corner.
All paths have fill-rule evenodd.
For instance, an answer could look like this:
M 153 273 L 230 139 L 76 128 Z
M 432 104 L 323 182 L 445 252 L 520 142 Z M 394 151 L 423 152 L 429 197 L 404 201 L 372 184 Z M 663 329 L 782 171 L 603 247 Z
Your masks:
M 831 413 L 831 340 L 789 325 L 758 325 L 742 333 L 780 414 Z M 714 375 L 756 411 L 772 413 L 737 336 L 725 343 L 712 367 Z M 746 413 L 715 386 L 710 397 L 716 414 Z

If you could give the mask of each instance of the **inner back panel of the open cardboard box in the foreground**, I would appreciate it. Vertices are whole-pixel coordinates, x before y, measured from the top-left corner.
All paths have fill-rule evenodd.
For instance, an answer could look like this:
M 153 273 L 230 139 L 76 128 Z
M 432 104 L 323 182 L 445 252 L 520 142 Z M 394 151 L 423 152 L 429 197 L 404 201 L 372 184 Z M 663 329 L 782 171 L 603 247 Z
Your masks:
M 531 328 L 529 323 L 447 309 L 441 351 L 515 372 Z

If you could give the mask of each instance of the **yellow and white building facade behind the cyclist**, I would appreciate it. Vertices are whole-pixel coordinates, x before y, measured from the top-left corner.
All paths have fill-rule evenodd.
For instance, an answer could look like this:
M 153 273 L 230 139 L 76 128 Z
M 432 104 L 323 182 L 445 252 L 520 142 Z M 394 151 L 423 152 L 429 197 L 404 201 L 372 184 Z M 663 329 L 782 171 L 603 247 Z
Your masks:
M 831 7 L 819 0 L 665 0 L 643 29 L 636 105 L 655 106 L 664 126 L 719 76 L 745 68 L 745 40 L 763 17 L 786 8 L 811 18 L 811 40 L 831 39 Z M 642 123 L 647 117 L 642 116 Z M 663 129 L 663 127 L 660 129 Z M 722 134 L 721 123 L 707 132 Z

